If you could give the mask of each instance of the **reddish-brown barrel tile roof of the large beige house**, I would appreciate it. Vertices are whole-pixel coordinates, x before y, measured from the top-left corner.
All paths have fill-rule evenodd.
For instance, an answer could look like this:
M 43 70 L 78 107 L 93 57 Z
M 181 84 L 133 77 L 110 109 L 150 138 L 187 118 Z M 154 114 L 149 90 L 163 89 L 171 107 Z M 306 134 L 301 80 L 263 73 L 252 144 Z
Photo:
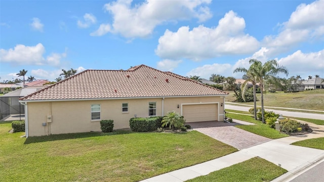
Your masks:
M 23 101 L 228 95 L 186 77 L 140 65 L 129 70 L 86 70 L 21 98 Z

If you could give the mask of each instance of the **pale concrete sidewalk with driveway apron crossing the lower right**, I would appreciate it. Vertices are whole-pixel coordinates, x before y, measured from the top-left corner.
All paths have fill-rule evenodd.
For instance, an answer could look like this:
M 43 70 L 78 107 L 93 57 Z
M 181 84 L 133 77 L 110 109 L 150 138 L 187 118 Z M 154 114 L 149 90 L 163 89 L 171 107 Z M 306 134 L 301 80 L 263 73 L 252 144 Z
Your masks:
M 290 145 L 301 140 L 324 137 L 324 126 L 316 126 L 317 130 L 307 135 L 289 136 L 272 140 L 211 161 L 154 176 L 143 181 L 185 181 L 197 176 L 207 175 L 210 172 L 243 162 L 256 156 L 266 159 L 276 165 L 280 165 L 282 168 L 289 171 L 273 181 L 289 181 L 299 175 L 305 168 L 311 166 L 314 162 L 324 159 L 324 150 Z

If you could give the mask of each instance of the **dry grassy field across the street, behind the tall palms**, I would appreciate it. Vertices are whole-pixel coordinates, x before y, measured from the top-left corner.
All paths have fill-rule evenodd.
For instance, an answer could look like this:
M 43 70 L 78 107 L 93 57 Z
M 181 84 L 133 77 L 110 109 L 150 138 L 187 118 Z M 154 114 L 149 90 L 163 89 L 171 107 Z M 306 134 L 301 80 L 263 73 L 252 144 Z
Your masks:
M 234 92 L 226 91 L 229 94 L 225 102 L 235 102 Z M 286 107 L 309 110 L 324 110 L 324 89 L 308 90 L 299 93 L 266 93 L 264 97 L 264 106 Z M 257 105 L 261 106 L 261 94 L 257 94 Z M 238 102 L 235 102 L 238 103 Z M 253 102 L 240 103 L 253 106 Z M 321 113 L 322 114 L 322 113 Z

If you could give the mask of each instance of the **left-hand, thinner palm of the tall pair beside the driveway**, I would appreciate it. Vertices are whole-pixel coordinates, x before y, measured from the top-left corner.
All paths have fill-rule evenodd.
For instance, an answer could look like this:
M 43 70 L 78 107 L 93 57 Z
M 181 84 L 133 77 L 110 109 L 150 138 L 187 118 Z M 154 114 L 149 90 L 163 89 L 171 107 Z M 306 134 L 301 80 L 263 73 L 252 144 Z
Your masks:
M 251 65 L 252 66 L 252 65 Z M 241 84 L 242 98 L 245 100 L 245 92 L 248 88 L 248 82 L 250 81 L 253 85 L 253 101 L 254 101 L 254 119 L 257 120 L 257 94 L 256 94 L 256 84 L 257 78 L 256 73 L 253 72 L 253 69 L 250 67 L 249 70 L 239 67 L 234 70 L 236 72 L 244 72 L 245 82 Z

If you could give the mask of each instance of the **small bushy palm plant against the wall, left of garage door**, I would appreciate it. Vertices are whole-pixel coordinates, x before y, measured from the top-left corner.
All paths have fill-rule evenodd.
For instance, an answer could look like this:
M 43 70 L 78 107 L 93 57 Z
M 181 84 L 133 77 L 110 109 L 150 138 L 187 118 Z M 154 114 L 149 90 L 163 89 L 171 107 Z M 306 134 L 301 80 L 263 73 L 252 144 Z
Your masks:
M 176 113 L 176 111 L 171 111 L 168 112 L 161 123 L 162 127 L 169 126 L 170 129 L 174 130 L 175 128 L 180 128 L 181 126 L 183 126 L 185 120 L 183 119 L 183 116 L 181 116 L 179 113 Z

